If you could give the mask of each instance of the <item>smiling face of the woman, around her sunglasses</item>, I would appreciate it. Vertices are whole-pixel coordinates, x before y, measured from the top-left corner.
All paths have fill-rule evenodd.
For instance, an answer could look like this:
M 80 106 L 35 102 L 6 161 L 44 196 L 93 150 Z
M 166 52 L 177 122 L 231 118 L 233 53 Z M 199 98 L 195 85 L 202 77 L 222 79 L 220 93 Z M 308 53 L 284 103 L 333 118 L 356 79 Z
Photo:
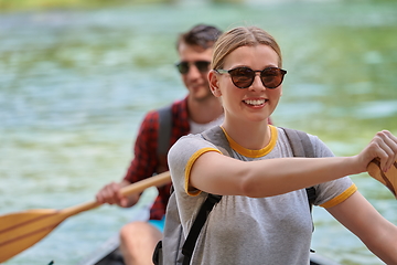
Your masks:
M 278 67 L 278 62 L 277 53 L 268 45 L 242 46 L 225 57 L 224 70 L 245 66 L 262 71 L 266 67 Z M 266 88 L 259 73 L 248 88 L 236 87 L 228 74 L 211 72 L 210 82 L 213 94 L 222 97 L 226 115 L 243 120 L 267 121 L 281 96 L 281 85 Z

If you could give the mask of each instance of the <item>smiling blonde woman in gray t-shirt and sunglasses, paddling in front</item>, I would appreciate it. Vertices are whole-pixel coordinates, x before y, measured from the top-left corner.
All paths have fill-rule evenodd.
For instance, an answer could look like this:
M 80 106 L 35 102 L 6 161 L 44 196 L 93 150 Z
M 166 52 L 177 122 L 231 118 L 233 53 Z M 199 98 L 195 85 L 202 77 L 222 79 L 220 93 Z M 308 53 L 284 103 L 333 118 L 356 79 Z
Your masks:
M 208 193 L 223 195 L 198 236 L 191 264 L 309 264 L 312 221 L 305 193 L 387 264 L 397 264 L 397 227 L 347 177 L 379 158 L 397 158 L 397 138 L 379 131 L 362 152 L 333 157 L 315 136 L 316 158 L 292 158 L 281 128 L 267 123 L 282 93 L 280 49 L 266 31 L 240 26 L 214 46 L 210 86 L 222 99 L 222 126 L 181 138 L 169 152 L 183 232 Z M 225 151 L 226 150 L 226 151 Z M 226 155 L 226 156 L 225 156 Z

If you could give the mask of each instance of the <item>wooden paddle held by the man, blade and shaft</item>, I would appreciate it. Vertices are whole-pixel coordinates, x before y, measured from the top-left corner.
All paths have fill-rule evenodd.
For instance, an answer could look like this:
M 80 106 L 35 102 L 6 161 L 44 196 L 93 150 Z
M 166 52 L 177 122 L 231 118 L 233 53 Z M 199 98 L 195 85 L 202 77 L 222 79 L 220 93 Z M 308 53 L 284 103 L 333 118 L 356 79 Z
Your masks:
M 171 182 L 171 176 L 167 171 L 125 187 L 121 193 L 130 195 L 142 192 L 149 187 L 169 182 Z M 29 210 L 0 216 L 0 263 L 41 241 L 65 219 L 99 205 L 96 201 L 92 201 L 63 210 Z

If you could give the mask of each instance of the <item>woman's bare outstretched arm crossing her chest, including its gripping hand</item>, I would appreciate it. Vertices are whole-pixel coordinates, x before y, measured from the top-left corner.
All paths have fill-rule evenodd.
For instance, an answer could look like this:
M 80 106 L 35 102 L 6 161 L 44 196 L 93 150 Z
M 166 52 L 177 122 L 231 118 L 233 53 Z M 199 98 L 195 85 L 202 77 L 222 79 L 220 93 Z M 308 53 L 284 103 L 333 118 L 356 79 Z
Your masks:
M 374 158 L 380 159 L 384 170 L 397 159 L 397 138 L 389 131 L 377 132 L 353 157 L 240 161 L 216 151 L 204 152 L 192 166 L 189 184 L 215 194 L 270 197 L 364 172 Z

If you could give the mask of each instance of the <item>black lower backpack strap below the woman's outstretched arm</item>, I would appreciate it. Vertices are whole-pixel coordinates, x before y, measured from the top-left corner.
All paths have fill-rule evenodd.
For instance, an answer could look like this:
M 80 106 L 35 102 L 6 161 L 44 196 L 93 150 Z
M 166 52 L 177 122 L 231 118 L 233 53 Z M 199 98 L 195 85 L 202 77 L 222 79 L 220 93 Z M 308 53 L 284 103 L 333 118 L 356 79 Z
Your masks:
M 204 203 L 200 208 L 200 211 L 193 222 L 191 230 L 189 231 L 187 237 L 182 247 L 182 254 L 184 256 L 182 263 L 183 265 L 190 264 L 200 232 L 204 226 L 210 212 L 213 210 L 214 205 L 221 201 L 221 199 L 222 195 L 208 193 L 208 197 L 205 199 Z

